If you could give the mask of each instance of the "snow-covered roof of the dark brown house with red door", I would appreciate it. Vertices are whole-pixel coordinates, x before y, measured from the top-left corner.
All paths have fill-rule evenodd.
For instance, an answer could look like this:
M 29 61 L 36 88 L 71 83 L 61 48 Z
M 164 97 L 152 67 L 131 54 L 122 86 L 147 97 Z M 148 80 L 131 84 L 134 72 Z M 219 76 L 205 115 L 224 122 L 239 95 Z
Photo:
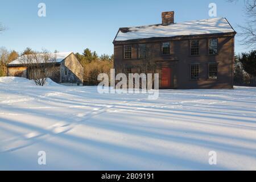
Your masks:
M 235 32 L 226 18 L 120 28 L 114 41 Z

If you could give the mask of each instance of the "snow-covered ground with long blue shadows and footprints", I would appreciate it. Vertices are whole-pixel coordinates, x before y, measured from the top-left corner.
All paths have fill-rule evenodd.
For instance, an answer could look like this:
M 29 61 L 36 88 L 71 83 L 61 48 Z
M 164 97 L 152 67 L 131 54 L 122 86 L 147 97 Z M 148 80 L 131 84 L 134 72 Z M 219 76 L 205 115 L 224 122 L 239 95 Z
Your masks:
M 256 170 L 256 88 L 160 90 L 148 100 L 2 77 L 0 169 Z

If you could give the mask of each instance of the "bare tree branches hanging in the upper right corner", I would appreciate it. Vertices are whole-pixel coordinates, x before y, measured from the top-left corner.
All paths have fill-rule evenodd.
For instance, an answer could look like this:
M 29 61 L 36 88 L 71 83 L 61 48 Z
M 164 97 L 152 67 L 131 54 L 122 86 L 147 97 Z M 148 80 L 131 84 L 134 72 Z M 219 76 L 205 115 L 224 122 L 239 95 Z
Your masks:
M 237 2 L 238 0 L 228 0 Z M 247 48 L 256 48 L 256 0 L 243 0 L 245 3 L 246 25 L 238 25 L 242 29 L 242 44 Z

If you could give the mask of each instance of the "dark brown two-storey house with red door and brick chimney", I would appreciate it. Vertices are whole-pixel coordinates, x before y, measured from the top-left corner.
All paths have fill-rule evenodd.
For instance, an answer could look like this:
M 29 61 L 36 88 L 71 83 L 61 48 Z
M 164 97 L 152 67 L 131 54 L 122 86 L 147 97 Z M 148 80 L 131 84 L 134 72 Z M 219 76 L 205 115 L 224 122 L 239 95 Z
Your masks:
M 162 24 L 119 28 L 114 68 L 139 72 L 149 48 L 160 88 L 233 88 L 235 35 L 226 18 L 174 23 L 174 11 L 163 12 Z

